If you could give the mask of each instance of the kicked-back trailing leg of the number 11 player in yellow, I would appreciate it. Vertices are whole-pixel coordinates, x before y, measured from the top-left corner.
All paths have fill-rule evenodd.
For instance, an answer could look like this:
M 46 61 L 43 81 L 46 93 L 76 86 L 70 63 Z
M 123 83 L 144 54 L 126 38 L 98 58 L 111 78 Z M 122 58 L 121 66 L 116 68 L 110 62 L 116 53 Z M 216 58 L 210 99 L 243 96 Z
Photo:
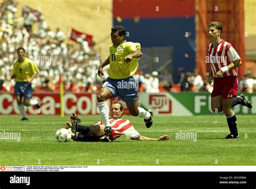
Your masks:
M 138 102 L 133 104 L 126 103 L 126 106 L 129 109 L 131 115 L 144 118 L 146 127 L 151 127 L 153 124 L 153 114 L 151 110 L 146 111 L 144 108 L 138 107 Z

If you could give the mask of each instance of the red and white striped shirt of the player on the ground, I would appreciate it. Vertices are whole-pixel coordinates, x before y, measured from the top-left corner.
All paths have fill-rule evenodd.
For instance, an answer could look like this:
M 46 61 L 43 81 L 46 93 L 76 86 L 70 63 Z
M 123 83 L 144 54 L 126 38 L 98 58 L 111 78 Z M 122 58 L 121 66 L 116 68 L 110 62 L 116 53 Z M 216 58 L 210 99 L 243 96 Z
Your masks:
M 126 135 L 131 139 L 135 139 L 140 136 L 139 132 L 134 129 L 132 123 L 129 120 L 112 118 L 109 120 L 110 126 L 112 128 L 112 134 L 109 136 L 111 141 L 119 138 L 121 135 Z M 103 121 L 98 122 L 97 124 L 104 125 Z

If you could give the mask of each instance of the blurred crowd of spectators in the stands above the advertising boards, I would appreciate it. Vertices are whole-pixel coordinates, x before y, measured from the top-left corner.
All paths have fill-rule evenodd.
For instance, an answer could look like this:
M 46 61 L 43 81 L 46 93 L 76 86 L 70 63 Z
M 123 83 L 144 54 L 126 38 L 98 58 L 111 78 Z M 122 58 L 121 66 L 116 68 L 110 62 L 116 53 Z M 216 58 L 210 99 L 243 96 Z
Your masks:
M 30 8 L 24 6 L 23 15 L 18 17 L 16 3 L 11 0 L 0 5 L 0 91 L 14 90 L 15 81 L 12 80 L 9 85 L 5 78 L 12 74 L 17 48 L 23 46 L 40 70 L 32 83 L 34 90 L 58 91 L 59 74 L 62 73 L 66 91 L 96 92 L 103 79 L 97 76 L 100 55 L 95 43 L 89 46 L 84 36 L 77 39 L 79 45 L 65 43 L 67 34 L 58 28 L 55 32 L 50 30 L 41 13 L 37 17 Z M 107 76 L 106 69 L 104 74 Z M 171 74 L 159 74 L 156 71 L 151 74 L 138 71 L 135 78 L 140 92 L 212 92 L 212 86 L 202 79 L 196 69 L 190 73 L 179 68 L 176 84 Z M 239 81 L 239 90 L 256 92 L 256 79 L 250 71 Z

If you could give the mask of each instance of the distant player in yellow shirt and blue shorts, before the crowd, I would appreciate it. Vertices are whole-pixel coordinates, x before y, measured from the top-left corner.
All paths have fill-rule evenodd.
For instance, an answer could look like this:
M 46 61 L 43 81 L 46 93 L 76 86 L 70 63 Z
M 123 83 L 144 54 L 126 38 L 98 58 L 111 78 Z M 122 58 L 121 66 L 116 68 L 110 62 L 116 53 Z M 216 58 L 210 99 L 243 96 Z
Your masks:
M 32 99 L 32 88 L 31 83 L 36 75 L 39 73 L 39 69 L 36 64 L 32 62 L 29 58 L 25 57 L 25 49 L 19 47 L 17 49 L 18 60 L 14 61 L 14 69 L 12 71 L 11 78 L 7 78 L 8 81 L 15 79 L 14 95 L 18 103 L 19 111 L 21 112 L 23 118 L 22 121 L 28 121 L 28 115 L 24 106 L 36 106 L 37 109 L 40 108 L 37 99 Z M 24 97 L 22 101 L 22 97 Z

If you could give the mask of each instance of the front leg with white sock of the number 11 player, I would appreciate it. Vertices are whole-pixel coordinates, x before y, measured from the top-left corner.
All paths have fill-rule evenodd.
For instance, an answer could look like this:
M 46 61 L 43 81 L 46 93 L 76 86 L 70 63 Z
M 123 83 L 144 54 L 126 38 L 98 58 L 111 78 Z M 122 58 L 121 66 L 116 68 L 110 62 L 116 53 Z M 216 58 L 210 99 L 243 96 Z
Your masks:
M 102 87 L 99 89 L 97 95 L 99 115 L 105 127 L 109 127 L 109 107 L 107 106 L 106 100 L 112 97 L 112 93 L 109 89 Z

